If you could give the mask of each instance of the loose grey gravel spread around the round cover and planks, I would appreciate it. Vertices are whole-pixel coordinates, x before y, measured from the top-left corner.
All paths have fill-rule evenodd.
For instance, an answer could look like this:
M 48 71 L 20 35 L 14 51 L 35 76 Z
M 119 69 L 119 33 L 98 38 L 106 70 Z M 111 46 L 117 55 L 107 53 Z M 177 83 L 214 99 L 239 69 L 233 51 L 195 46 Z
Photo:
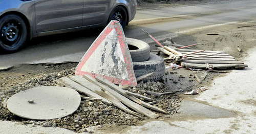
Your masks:
M 76 132 L 87 132 L 87 127 L 95 125 L 137 125 L 139 121 L 148 119 L 147 117 L 140 114 L 139 115 L 141 118 L 127 114 L 119 108 L 113 105 L 106 105 L 101 101 L 90 100 L 81 100 L 81 104 L 78 109 L 70 116 L 46 121 L 20 118 L 10 113 L 10 111 L 7 109 L 6 101 L 12 95 L 37 86 L 60 86 L 57 84 L 56 80 L 63 76 L 72 76 L 74 75 L 74 71 L 75 68 L 72 68 L 69 70 L 62 70 L 60 72 L 38 75 L 34 78 L 29 78 L 23 83 L 13 85 L 5 91 L 2 90 L 2 92 L 0 92 L 0 119 L 6 121 L 23 122 L 23 124 L 32 124 L 32 126 L 40 125 L 44 127 L 62 127 Z M 159 115 L 163 115 L 161 118 L 170 118 L 173 114 L 176 113 L 177 108 L 180 105 L 179 103 L 181 102 L 181 99 L 176 95 L 165 95 L 157 97 L 154 95 L 146 94 L 146 91 L 159 93 L 168 92 L 170 87 L 166 86 L 166 84 L 162 82 L 140 82 L 136 87 L 129 88 L 127 90 L 153 98 L 154 100 L 160 100 L 154 105 L 162 108 L 163 110 L 166 110 L 168 113 L 168 115 L 157 113 Z M 147 102 L 146 100 L 144 101 Z M 90 131 L 90 133 L 93 133 L 93 131 Z

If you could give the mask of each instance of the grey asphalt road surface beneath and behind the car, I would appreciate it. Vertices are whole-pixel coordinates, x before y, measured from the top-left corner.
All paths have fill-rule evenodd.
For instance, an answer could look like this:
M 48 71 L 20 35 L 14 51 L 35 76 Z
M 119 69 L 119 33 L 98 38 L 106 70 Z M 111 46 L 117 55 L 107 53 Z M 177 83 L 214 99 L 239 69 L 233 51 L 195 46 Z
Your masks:
M 161 23 L 153 21 L 160 19 L 164 21 Z M 227 1 L 197 6 L 140 10 L 132 21 L 132 25 L 126 27 L 124 33 L 126 37 L 145 40 L 148 37 L 141 31 L 144 29 L 158 39 L 160 36 L 176 35 L 178 31 L 191 28 L 250 20 L 256 20 L 254 0 Z M 143 21 L 146 25 L 137 25 L 138 22 Z M 148 23 L 150 21 L 154 23 Z M 34 38 L 23 50 L 0 55 L 0 69 L 22 63 L 79 61 L 101 30 Z

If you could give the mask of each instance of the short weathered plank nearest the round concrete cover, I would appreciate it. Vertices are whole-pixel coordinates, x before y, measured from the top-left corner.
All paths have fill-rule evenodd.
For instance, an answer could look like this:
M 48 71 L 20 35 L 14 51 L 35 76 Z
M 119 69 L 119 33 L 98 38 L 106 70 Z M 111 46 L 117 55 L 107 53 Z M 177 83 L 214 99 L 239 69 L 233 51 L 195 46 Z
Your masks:
M 104 102 L 106 104 L 109 104 L 109 105 L 112 104 L 109 100 L 106 100 L 105 98 L 103 98 L 103 97 L 99 96 L 98 94 L 90 91 L 88 88 L 83 87 L 82 85 L 79 85 L 78 83 L 72 81 L 71 79 L 69 79 L 67 77 L 62 77 L 62 78 L 58 79 L 57 82 L 59 82 L 60 84 L 65 85 L 66 87 L 73 88 L 77 92 L 80 92 L 80 93 L 82 93 L 84 95 L 87 95 L 89 97 L 102 99 L 102 102 Z

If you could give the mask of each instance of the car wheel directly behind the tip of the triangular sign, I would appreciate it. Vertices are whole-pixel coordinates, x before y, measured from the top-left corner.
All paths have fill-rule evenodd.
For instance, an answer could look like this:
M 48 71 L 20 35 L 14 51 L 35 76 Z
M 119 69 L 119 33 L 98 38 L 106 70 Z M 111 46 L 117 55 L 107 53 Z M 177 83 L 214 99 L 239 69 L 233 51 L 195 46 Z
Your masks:
M 109 22 L 111 20 L 117 20 L 124 29 L 127 23 L 127 16 L 126 10 L 123 7 L 116 7 L 110 14 Z

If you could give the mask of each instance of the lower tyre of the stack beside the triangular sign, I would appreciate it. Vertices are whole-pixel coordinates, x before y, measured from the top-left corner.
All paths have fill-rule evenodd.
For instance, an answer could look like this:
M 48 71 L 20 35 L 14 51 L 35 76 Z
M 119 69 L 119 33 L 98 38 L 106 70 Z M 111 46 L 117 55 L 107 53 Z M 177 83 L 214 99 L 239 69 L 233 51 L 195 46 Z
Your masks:
M 158 81 L 163 78 L 165 73 L 164 60 L 160 56 L 150 54 L 150 59 L 143 62 L 133 62 L 133 69 L 136 77 L 155 72 L 143 81 Z

